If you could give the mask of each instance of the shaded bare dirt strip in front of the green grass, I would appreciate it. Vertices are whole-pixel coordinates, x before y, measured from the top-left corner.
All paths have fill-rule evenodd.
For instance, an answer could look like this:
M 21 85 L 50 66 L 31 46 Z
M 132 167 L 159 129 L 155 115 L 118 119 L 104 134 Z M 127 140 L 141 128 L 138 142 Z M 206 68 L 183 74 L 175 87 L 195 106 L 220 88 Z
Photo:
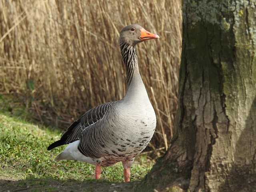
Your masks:
M 139 182 L 76 181 L 0 176 L 0 192 L 132 192 Z

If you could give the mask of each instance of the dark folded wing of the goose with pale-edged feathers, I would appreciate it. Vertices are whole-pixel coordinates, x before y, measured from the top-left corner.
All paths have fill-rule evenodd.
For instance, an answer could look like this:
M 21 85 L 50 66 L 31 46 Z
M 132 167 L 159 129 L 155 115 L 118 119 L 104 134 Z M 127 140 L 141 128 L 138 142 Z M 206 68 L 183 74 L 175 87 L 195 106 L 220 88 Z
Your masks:
M 58 146 L 65 144 L 70 144 L 76 140 L 79 140 L 82 136 L 82 131 L 88 126 L 95 124 L 100 121 L 106 112 L 114 106 L 114 102 L 107 102 L 98 105 L 90 110 L 88 110 L 84 115 L 82 115 L 78 120 L 74 121 L 61 136 L 60 140 L 50 144 L 47 150 L 51 150 Z

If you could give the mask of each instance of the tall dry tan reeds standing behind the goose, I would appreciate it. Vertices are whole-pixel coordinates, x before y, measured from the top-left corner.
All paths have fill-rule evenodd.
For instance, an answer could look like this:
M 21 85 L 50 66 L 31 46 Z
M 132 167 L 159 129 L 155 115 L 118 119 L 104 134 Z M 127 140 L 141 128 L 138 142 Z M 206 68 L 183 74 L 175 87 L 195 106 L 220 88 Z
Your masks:
M 66 129 L 93 106 L 124 96 L 118 36 L 138 23 L 160 36 L 139 44 L 138 58 L 157 114 L 150 148 L 165 149 L 177 108 L 181 20 L 180 0 L 0 0 L 0 91 Z

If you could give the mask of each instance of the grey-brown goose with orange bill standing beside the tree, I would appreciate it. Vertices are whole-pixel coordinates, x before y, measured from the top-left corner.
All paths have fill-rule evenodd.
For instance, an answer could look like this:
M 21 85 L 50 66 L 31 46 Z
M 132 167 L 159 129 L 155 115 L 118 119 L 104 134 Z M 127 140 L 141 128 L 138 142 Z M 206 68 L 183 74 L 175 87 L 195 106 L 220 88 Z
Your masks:
M 130 182 L 134 158 L 146 148 L 156 128 L 156 114 L 139 72 L 136 44 L 157 38 L 158 35 L 138 24 L 122 29 L 119 46 L 126 68 L 124 98 L 100 104 L 73 122 L 60 140 L 47 148 L 68 144 L 55 161 L 78 160 L 93 164 L 96 179 L 100 178 L 101 166 L 122 162 L 124 180 Z

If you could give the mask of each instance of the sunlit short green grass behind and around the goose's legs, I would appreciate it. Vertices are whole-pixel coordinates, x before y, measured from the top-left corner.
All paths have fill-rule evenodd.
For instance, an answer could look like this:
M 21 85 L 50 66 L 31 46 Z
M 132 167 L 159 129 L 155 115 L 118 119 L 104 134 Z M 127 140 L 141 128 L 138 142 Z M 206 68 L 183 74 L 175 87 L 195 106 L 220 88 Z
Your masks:
M 95 166 L 78 161 L 62 160 L 54 162 L 65 146 L 47 151 L 52 142 L 58 140 L 61 133 L 31 124 L 9 112 L 0 111 L 0 176 L 18 179 L 53 178 L 92 181 L 95 178 Z M 131 168 L 131 181 L 142 180 L 153 166 L 146 156 L 135 159 Z M 110 182 L 124 181 L 122 163 L 102 167 L 100 180 Z

